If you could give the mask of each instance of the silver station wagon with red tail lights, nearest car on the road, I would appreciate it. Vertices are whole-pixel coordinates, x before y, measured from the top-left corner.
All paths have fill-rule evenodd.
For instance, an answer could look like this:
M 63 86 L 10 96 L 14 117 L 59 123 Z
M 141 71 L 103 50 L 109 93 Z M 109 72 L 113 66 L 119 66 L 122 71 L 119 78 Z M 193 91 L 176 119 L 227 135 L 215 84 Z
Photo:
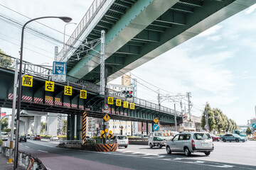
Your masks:
M 166 143 L 166 152 L 185 152 L 190 156 L 193 152 L 204 152 L 209 155 L 214 149 L 213 140 L 208 132 L 183 132 Z

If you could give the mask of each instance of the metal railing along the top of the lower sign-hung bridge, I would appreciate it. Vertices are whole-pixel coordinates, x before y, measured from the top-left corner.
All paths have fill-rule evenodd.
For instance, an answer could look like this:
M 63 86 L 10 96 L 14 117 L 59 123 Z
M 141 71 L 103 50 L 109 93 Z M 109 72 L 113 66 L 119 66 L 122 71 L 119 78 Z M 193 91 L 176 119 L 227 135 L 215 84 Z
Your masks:
M 0 53 L 0 68 L 4 67 L 7 69 L 14 70 L 14 63 L 15 63 L 14 61 L 15 61 L 14 57 Z M 23 65 L 24 65 L 24 69 L 23 69 L 24 74 L 26 74 L 26 73 L 27 74 L 40 74 L 41 78 L 43 77 L 46 79 L 48 79 L 49 76 L 52 74 L 52 69 L 48 69 L 48 68 L 42 67 L 40 65 L 32 64 L 31 62 L 23 61 Z M 73 86 L 78 89 L 85 89 L 87 91 L 92 91 L 96 94 L 100 94 L 100 86 L 98 86 L 96 84 L 92 84 L 88 81 L 84 81 L 84 80 L 81 80 L 81 79 L 78 79 L 75 77 L 70 77 L 70 76 L 67 76 L 66 79 L 70 86 Z M 108 89 L 108 91 L 111 92 L 112 90 Z M 117 92 L 117 91 L 115 91 L 115 92 Z M 127 98 L 123 98 L 122 96 L 116 96 L 116 95 L 113 95 L 112 93 L 109 93 L 109 96 L 112 96 L 112 97 L 118 98 L 118 99 L 122 99 L 123 101 L 129 101 L 129 99 L 127 99 Z M 135 103 L 137 106 L 142 106 L 144 108 L 149 108 L 154 111 L 161 111 L 164 113 L 174 115 L 173 109 L 166 108 L 164 106 L 159 106 L 156 103 L 151 103 L 149 101 L 146 101 L 146 100 L 143 100 L 140 98 L 133 97 L 130 100 L 130 102 Z M 176 115 L 181 116 L 181 112 L 176 111 Z

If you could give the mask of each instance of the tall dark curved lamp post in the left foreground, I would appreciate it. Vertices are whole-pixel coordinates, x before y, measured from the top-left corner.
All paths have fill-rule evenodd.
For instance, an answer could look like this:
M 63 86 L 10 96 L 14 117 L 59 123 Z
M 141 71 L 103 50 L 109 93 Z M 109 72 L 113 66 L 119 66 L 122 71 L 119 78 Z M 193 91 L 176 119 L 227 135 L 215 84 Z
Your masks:
M 20 111 L 21 111 L 21 74 L 22 74 L 22 57 L 23 57 L 23 35 L 24 35 L 24 29 L 28 23 L 31 23 L 32 21 L 43 19 L 43 18 L 59 18 L 65 23 L 69 23 L 72 21 L 72 18 L 67 16 L 43 16 L 39 18 L 31 19 L 30 21 L 26 22 L 24 26 L 22 27 L 22 33 L 21 33 L 21 57 L 20 57 L 20 65 L 19 65 L 19 74 L 18 74 L 18 101 L 17 101 L 17 118 L 16 118 L 16 140 L 15 140 L 15 160 L 14 160 L 14 169 L 17 169 L 18 167 L 18 131 L 19 131 L 19 120 L 20 120 Z

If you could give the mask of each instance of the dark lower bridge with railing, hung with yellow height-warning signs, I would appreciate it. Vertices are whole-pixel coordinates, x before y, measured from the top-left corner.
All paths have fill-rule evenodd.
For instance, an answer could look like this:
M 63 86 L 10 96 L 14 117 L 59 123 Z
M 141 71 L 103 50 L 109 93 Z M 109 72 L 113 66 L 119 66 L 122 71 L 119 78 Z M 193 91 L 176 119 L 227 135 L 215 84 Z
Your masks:
M 12 108 L 14 99 L 14 57 L 0 54 L 0 107 Z M 21 109 L 26 111 L 65 113 L 75 121 L 75 115 L 85 111 L 87 116 L 103 118 L 104 96 L 101 96 L 100 86 L 74 77 L 67 77 L 65 83 L 55 82 L 53 91 L 46 91 L 46 81 L 50 79 L 51 69 L 23 62 L 23 74 L 33 75 L 33 86 L 22 86 Z M 40 74 L 40 75 L 34 75 Z M 65 86 L 72 87 L 72 95 L 65 95 Z M 87 91 L 87 98 L 80 98 L 80 90 Z M 125 98 L 112 96 L 109 115 L 115 120 L 129 120 L 137 122 L 154 123 L 159 118 L 161 124 L 174 125 L 174 110 L 159 106 L 149 101 L 133 98 L 129 107 L 124 108 Z M 117 99 L 122 100 L 122 106 L 117 106 Z M 134 103 L 132 109 L 131 103 Z M 181 113 L 176 111 L 178 124 L 182 123 Z M 78 116 L 80 118 L 80 116 Z M 80 120 L 78 120 L 79 122 Z

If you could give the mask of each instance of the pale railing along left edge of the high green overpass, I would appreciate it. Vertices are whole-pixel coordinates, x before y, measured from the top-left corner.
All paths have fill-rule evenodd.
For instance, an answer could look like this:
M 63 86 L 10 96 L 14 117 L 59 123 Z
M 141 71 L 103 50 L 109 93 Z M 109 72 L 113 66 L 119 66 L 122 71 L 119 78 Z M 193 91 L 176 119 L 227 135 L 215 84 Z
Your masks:
M 78 27 L 75 28 L 75 31 L 70 36 L 68 41 L 65 43 L 62 50 L 60 50 L 60 53 L 58 54 L 58 59 L 60 61 L 65 60 L 65 53 L 68 53 L 70 50 L 74 49 L 73 45 L 75 45 L 75 42 L 78 41 L 78 38 L 82 34 L 82 32 L 89 26 L 89 24 L 92 22 L 93 18 L 95 18 L 98 11 L 100 11 L 100 8 L 105 3 L 106 0 L 95 0 L 92 2 L 92 5 L 88 9 L 88 11 L 85 13 L 85 16 L 82 18 L 80 23 L 78 24 Z

